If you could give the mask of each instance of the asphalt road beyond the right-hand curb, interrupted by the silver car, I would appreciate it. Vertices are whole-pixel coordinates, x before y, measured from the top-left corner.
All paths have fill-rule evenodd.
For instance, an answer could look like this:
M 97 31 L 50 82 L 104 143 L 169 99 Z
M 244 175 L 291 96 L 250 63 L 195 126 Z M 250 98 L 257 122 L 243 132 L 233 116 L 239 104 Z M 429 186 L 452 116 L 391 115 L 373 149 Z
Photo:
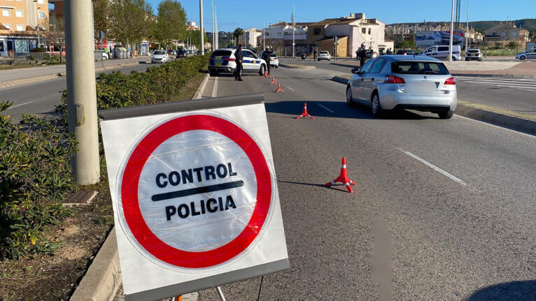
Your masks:
M 335 65 L 334 61 L 306 59 L 282 59 L 290 64 L 315 66 L 332 73 L 351 75 L 347 66 Z M 340 62 L 344 64 L 344 61 Z M 529 63 L 532 64 L 532 63 Z M 536 79 L 530 78 L 476 78 L 456 76 L 458 100 L 479 103 L 491 107 L 536 115 Z

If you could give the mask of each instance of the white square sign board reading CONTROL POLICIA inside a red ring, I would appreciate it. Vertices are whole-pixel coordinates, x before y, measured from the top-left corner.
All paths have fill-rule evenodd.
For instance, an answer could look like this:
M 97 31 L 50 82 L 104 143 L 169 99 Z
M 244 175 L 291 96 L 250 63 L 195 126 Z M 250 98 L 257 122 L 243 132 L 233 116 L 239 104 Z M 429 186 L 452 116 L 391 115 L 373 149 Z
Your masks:
M 101 130 L 126 300 L 290 267 L 263 103 L 104 119 Z

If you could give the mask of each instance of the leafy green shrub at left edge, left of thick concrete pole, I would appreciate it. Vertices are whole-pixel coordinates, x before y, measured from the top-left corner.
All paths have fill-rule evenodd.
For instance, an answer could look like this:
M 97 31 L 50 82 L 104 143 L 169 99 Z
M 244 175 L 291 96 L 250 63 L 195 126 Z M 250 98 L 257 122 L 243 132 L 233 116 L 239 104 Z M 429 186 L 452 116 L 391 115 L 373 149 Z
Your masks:
M 50 120 L 24 115 L 15 125 L 0 115 L 0 260 L 52 250 L 43 230 L 69 214 L 60 200 L 74 189 L 75 152 L 72 135 Z

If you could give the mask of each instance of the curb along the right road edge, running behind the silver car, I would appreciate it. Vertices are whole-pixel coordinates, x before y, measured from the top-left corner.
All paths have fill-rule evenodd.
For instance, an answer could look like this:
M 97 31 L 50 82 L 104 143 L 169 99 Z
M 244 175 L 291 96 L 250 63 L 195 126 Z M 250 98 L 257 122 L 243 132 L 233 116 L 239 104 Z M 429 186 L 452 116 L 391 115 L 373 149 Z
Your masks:
M 348 83 L 348 78 L 337 75 L 332 78 L 332 81 L 346 85 Z M 476 119 L 481 122 L 498 124 L 500 126 L 506 126 L 510 129 L 516 129 L 528 133 L 536 133 L 536 122 L 530 119 L 514 117 L 499 112 L 493 112 L 491 110 L 474 108 L 470 105 L 466 105 L 463 103 L 458 103 L 458 106 L 456 107 L 456 111 L 454 113 L 461 116 L 469 117 L 471 119 Z

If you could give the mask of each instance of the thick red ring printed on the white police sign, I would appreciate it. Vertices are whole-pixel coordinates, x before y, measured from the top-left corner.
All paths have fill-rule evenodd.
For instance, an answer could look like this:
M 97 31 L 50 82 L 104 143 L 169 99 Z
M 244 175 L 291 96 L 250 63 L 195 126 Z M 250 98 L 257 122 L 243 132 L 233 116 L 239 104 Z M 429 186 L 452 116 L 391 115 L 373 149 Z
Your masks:
M 257 180 L 257 202 L 246 228 L 222 247 L 211 251 L 190 252 L 162 242 L 147 226 L 138 200 L 138 184 L 143 166 L 165 140 L 186 131 L 206 130 L 225 135 L 244 150 Z M 122 174 L 121 204 L 123 215 L 134 238 L 156 258 L 186 268 L 212 267 L 241 254 L 260 233 L 271 201 L 271 174 L 265 156 L 255 140 L 236 124 L 212 115 L 187 115 L 171 119 L 150 131 L 136 145 Z

